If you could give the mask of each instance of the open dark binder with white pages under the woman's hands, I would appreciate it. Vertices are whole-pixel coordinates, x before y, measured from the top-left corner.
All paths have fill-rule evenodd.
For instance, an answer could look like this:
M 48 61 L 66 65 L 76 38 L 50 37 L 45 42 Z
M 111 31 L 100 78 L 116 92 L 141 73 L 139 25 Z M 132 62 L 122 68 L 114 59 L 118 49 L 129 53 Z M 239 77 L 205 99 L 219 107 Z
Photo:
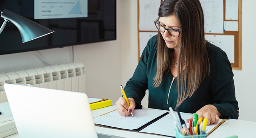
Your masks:
M 173 122 L 175 120 L 169 112 L 164 110 L 135 109 L 133 111 L 133 115 L 134 118 L 132 116 L 121 116 L 118 114 L 117 110 L 114 110 L 101 116 L 94 117 L 93 120 L 95 126 L 100 127 L 169 137 L 176 136 L 175 128 L 173 126 Z M 191 118 L 193 114 L 186 113 L 181 116 L 183 119 L 188 119 Z M 218 124 L 211 124 L 210 126 L 207 126 L 208 128 L 206 128 L 206 133 L 210 134 L 224 121 L 225 119 L 220 119 Z

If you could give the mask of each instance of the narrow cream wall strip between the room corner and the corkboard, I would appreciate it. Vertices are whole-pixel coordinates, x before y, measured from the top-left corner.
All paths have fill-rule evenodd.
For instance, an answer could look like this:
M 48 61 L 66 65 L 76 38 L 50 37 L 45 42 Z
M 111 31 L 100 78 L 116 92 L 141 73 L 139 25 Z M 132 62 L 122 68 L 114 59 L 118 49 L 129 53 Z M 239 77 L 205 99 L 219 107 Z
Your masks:
M 122 1 L 123 23 L 122 23 L 122 84 L 132 77 L 138 64 L 138 31 L 137 31 L 137 0 Z

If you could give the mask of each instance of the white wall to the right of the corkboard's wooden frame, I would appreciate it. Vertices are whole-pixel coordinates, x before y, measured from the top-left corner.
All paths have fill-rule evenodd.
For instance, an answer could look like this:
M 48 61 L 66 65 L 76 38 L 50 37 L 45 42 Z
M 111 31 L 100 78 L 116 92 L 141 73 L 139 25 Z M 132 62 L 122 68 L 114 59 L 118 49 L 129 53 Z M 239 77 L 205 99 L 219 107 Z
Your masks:
M 239 119 L 256 122 L 256 9 L 255 0 L 242 0 L 242 70 L 233 70 Z

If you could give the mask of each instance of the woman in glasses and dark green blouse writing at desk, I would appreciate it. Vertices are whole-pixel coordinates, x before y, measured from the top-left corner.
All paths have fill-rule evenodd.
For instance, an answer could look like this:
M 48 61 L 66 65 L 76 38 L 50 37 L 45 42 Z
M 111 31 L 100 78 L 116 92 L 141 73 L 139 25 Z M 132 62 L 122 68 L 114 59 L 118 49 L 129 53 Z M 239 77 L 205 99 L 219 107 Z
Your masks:
M 158 35 L 149 40 L 124 88 L 130 107 L 119 98 L 119 114 L 141 109 L 148 89 L 149 108 L 197 113 L 210 120 L 207 125 L 219 117 L 237 119 L 231 64 L 224 51 L 205 40 L 199 0 L 164 0 L 158 15 Z

